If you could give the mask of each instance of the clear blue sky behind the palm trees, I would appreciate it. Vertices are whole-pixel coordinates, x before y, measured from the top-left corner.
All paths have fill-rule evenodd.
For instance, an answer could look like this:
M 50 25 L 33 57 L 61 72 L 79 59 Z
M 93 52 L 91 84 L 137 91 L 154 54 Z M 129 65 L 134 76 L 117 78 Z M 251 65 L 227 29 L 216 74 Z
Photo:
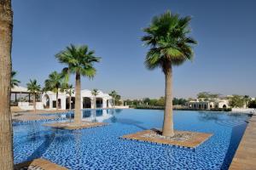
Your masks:
M 164 95 L 164 75 L 143 65 L 140 37 L 151 18 L 167 9 L 191 15 L 199 42 L 195 59 L 174 68 L 176 97 L 198 92 L 256 96 L 256 1 L 13 0 L 13 68 L 26 86 L 61 71 L 54 55 L 68 44 L 87 44 L 102 57 L 96 77 L 82 88 L 115 89 L 125 99 Z M 73 82 L 73 77 L 72 81 Z

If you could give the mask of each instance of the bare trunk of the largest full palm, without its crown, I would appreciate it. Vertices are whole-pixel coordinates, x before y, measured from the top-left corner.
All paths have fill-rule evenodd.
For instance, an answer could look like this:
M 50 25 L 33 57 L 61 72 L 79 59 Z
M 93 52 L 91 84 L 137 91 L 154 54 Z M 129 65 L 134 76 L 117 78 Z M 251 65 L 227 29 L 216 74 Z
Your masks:
M 172 118 L 172 65 L 166 63 L 165 65 L 165 76 L 166 76 L 166 104 L 165 104 L 165 115 L 163 123 L 163 136 L 172 137 L 173 131 L 173 118 Z

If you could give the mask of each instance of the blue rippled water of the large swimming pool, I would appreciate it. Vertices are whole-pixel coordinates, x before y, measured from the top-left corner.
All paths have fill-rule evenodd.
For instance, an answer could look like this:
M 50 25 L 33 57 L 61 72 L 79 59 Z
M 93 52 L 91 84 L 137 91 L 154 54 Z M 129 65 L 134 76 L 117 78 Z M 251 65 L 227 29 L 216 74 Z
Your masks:
M 61 114 L 60 117 L 73 117 Z M 120 136 L 161 127 L 163 111 L 83 111 L 84 120 L 106 127 L 62 130 L 45 122 L 14 123 L 15 163 L 42 157 L 69 169 L 228 169 L 247 126 L 245 114 L 174 111 L 174 127 L 213 133 L 195 150 L 149 144 Z

